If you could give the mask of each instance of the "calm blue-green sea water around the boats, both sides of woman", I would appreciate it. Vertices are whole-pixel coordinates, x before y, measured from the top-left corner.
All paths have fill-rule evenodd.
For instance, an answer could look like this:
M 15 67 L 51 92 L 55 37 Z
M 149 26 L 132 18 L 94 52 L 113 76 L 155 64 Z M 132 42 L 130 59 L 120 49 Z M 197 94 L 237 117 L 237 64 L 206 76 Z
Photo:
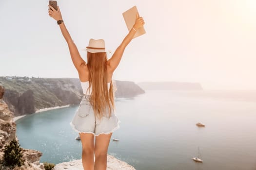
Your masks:
M 148 90 L 117 98 L 120 129 L 108 153 L 137 170 L 256 170 L 256 92 Z M 78 134 L 69 125 L 71 106 L 17 120 L 23 148 L 43 153 L 40 162 L 81 158 Z M 195 124 L 203 122 L 204 128 Z M 203 163 L 191 158 L 197 156 Z

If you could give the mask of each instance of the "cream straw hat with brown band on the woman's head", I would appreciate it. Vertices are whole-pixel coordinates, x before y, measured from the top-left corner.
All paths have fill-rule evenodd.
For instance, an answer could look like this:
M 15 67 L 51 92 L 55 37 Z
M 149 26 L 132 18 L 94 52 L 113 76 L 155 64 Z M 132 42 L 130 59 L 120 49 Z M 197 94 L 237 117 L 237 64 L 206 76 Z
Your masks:
M 89 40 L 89 45 L 86 48 L 81 49 L 81 50 L 92 52 L 92 53 L 96 53 L 96 52 L 110 52 L 111 53 L 111 51 L 105 49 L 105 41 L 103 39 L 91 38 Z

